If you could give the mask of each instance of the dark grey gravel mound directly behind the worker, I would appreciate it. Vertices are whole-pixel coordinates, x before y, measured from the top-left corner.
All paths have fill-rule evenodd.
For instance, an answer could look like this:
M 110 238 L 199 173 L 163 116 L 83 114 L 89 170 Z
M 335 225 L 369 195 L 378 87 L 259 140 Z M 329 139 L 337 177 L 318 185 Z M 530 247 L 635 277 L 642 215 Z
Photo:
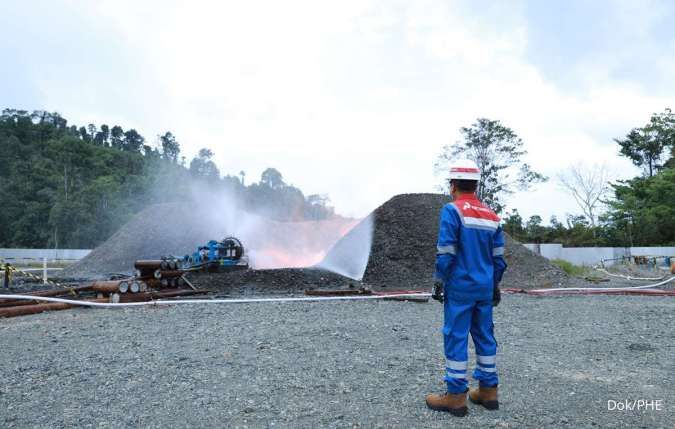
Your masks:
M 397 195 L 370 214 L 374 233 L 363 282 L 379 287 L 430 288 L 433 283 L 436 240 L 441 209 L 449 202 L 441 194 Z M 360 245 L 362 222 L 338 241 L 322 265 L 349 258 Z M 504 287 L 532 289 L 566 287 L 576 281 L 547 259 L 507 236 Z

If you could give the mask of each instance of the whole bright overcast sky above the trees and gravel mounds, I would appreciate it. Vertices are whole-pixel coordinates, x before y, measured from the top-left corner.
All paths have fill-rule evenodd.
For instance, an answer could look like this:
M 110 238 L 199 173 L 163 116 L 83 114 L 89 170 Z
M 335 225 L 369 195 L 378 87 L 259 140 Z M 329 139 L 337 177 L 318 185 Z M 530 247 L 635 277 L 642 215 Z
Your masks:
M 613 138 L 675 108 L 672 1 L 0 0 L 0 107 L 171 130 L 222 173 L 275 167 L 365 215 L 432 192 L 459 127 L 499 119 L 540 172 L 635 170 Z M 522 214 L 580 212 L 552 180 Z

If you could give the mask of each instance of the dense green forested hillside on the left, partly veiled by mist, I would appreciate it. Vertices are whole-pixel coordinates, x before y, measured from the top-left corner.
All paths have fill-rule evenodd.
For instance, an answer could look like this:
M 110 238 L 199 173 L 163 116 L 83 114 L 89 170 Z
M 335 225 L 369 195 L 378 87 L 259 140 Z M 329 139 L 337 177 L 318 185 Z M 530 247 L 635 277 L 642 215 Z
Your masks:
M 195 188 L 227 192 L 278 220 L 334 216 L 326 195 L 303 195 L 268 168 L 245 184 L 222 176 L 202 149 L 189 163 L 171 132 L 153 142 L 134 129 L 69 125 L 58 113 L 6 109 L 0 116 L 0 247 L 93 248 L 135 213 L 186 201 Z

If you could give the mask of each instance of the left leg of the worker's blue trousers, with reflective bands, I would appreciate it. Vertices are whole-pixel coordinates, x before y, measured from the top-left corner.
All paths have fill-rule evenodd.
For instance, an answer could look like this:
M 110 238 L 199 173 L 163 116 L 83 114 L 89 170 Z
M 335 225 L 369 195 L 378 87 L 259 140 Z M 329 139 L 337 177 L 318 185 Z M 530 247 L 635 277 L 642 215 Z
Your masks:
M 465 392 L 468 385 L 467 364 L 469 328 L 473 303 L 459 303 L 446 299 L 443 344 L 445 346 L 445 377 L 448 392 Z

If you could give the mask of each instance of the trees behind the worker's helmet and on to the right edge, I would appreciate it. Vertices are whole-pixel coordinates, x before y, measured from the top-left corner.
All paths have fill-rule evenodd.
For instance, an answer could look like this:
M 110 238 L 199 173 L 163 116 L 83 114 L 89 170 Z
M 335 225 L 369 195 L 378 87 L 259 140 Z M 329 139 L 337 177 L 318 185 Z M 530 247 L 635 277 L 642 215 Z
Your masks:
M 572 165 L 558 174 L 561 189 L 576 201 L 581 213 L 523 219 L 518 210 L 505 212 L 504 199 L 549 180 L 523 159 L 526 151 L 517 134 L 500 121 L 478 119 L 460 129 L 462 139 L 447 145 L 436 163 L 446 171 L 458 157 L 474 160 L 481 169 L 479 197 L 503 217 L 504 230 L 530 243 L 566 246 L 672 246 L 675 245 L 675 115 L 670 109 L 614 139 L 618 155 L 642 171 L 629 180 L 612 181 L 603 164 Z M 449 190 L 443 179 L 441 189 Z

